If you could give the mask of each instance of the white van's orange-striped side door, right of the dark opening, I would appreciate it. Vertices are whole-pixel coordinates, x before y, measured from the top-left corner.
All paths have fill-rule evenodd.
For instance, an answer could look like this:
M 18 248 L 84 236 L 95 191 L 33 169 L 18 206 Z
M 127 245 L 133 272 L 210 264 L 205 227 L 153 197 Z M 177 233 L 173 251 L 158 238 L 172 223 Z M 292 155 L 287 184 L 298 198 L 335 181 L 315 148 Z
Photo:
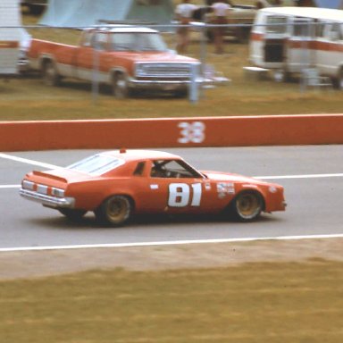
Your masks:
M 300 72 L 315 66 L 314 21 L 308 18 L 292 18 L 291 21 L 286 69 Z

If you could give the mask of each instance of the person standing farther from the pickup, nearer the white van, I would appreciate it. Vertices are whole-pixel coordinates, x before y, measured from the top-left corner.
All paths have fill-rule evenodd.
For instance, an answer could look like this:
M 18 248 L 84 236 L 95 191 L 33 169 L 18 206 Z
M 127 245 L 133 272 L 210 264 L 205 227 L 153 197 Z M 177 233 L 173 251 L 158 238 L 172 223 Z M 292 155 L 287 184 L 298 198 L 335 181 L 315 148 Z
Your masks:
M 225 0 L 218 0 L 212 4 L 214 16 L 213 23 L 216 25 L 225 25 L 228 23 L 228 14 L 231 8 Z M 213 29 L 215 53 L 222 54 L 224 52 L 224 34 L 225 27 L 216 27 Z

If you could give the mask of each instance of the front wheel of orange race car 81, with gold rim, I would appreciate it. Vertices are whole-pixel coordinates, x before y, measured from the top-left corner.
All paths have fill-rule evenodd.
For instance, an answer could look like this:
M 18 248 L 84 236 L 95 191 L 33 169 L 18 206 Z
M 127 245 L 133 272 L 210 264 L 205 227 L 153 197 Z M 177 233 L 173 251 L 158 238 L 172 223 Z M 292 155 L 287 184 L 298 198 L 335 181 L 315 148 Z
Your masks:
M 252 222 L 264 210 L 264 198 L 254 190 L 245 190 L 238 194 L 230 204 L 230 212 L 239 222 Z

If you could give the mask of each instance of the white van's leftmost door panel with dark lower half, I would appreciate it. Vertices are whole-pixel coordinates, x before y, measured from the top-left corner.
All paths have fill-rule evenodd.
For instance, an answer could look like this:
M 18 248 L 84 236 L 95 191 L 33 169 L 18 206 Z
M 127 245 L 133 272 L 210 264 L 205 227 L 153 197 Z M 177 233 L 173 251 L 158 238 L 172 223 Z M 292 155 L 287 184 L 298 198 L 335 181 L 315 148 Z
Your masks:
M 268 15 L 264 36 L 264 62 L 266 68 L 283 68 L 285 46 L 288 38 L 288 18 Z

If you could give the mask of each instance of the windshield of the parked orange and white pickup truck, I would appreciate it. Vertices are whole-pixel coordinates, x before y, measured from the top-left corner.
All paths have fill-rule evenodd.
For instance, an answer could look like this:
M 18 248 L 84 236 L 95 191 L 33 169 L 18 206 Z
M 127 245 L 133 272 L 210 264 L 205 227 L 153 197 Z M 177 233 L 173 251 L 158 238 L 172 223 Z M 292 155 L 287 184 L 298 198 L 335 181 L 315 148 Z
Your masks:
M 163 38 L 155 32 L 113 32 L 111 34 L 113 51 L 165 51 Z

